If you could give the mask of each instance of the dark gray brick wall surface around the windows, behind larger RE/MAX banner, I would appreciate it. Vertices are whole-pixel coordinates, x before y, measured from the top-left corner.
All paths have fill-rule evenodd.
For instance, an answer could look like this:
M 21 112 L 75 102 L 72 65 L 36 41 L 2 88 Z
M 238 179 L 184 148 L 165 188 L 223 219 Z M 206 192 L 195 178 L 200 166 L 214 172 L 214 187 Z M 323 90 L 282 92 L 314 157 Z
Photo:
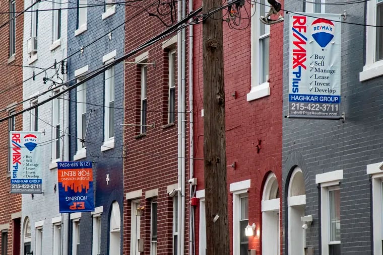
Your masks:
M 326 1 L 329 3 L 330 1 Z M 331 1 L 335 2 L 335 1 Z M 301 12 L 303 3 L 285 1 L 285 10 Z M 326 13 L 343 13 L 345 22 L 364 24 L 365 3 L 326 6 Z M 289 18 L 284 24 L 283 114 L 288 114 Z M 341 254 L 371 254 L 371 197 L 366 165 L 382 160 L 383 77 L 359 82 L 364 65 L 365 27 L 342 24 L 341 112 L 346 121 L 283 120 L 283 253 L 287 254 L 287 188 L 295 165 L 302 169 L 306 188 L 306 215 L 314 218 L 306 244 L 320 254 L 320 189 L 315 175 L 343 169 L 341 192 Z M 294 255 L 294 254 L 291 254 Z

